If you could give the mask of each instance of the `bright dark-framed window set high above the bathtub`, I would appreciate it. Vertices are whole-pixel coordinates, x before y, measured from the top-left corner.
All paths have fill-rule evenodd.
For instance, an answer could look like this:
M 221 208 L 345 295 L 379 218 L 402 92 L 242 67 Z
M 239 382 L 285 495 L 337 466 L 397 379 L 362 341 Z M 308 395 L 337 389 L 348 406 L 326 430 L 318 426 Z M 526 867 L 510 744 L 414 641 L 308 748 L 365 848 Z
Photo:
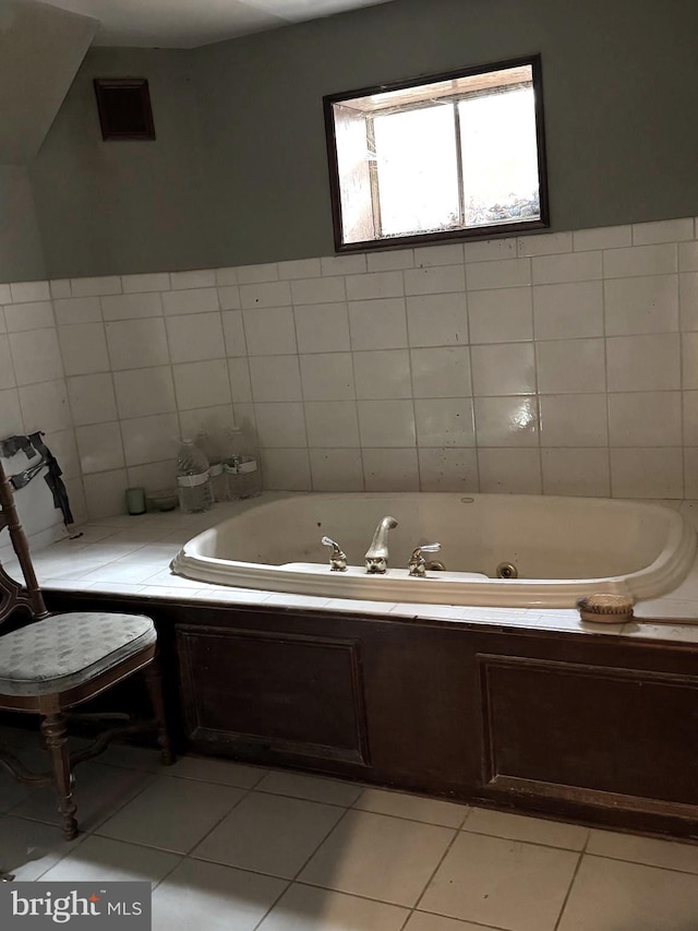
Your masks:
M 538 56 L 324 103 L 337 251 L 549 225 Z

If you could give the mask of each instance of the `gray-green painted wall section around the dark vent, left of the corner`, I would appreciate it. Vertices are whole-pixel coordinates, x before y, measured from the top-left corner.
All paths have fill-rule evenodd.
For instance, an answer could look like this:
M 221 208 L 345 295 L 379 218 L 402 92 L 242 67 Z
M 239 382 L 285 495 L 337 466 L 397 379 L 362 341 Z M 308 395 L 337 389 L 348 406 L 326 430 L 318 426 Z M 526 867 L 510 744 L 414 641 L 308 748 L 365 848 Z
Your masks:
M 216 231 L 191 56 L 91 49 L 38 157 L 32 181 L 51 277 L 191 268 L 209 263 Z M 94 77 L 147 77 L 154 142 L 104 142 Z

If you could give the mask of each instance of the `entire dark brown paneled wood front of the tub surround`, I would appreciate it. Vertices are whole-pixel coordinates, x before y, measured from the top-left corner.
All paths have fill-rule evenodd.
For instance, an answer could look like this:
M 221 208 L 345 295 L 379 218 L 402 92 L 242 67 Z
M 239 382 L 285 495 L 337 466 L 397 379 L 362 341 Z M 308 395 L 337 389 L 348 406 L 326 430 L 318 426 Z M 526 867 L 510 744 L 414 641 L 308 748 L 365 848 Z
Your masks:
M 48 600 L 155 619 L 182 751 L 698 837 L 698 643 L 137 596 Z

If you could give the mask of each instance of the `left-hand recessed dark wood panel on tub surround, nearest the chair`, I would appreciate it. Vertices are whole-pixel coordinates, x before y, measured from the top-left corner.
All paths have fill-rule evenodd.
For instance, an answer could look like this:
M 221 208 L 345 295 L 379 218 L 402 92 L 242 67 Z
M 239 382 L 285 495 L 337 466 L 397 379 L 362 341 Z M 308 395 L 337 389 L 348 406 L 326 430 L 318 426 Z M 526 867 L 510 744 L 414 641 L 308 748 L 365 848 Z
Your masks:
M 368 765 L 356 641 L 181 624 L 177 642 L 194 743 Z

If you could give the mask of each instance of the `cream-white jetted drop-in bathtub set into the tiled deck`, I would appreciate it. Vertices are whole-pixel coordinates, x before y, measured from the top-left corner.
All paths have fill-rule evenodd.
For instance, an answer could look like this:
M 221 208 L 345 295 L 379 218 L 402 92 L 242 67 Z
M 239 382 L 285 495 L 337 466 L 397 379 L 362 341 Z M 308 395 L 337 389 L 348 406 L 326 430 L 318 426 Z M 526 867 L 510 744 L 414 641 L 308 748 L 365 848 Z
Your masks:
M 378 521 L 389 569 L 365 573 L 363 556 Z M 347 553 L 330 572 L 321 537 Z M 441 542 L 446 571 L 410 577 L 421 544 Z M 696 534 L 675 511 L 655 504 L 527 494 L 347 493 L 261 500 L 190 540 L 172 561 L 189 578 L 329 598 L 438 605 L 574 607 L 598 593 L 633 601 L 675 588 L 696 552 Z M 513 563 L 518 578 L 497 578 Z

